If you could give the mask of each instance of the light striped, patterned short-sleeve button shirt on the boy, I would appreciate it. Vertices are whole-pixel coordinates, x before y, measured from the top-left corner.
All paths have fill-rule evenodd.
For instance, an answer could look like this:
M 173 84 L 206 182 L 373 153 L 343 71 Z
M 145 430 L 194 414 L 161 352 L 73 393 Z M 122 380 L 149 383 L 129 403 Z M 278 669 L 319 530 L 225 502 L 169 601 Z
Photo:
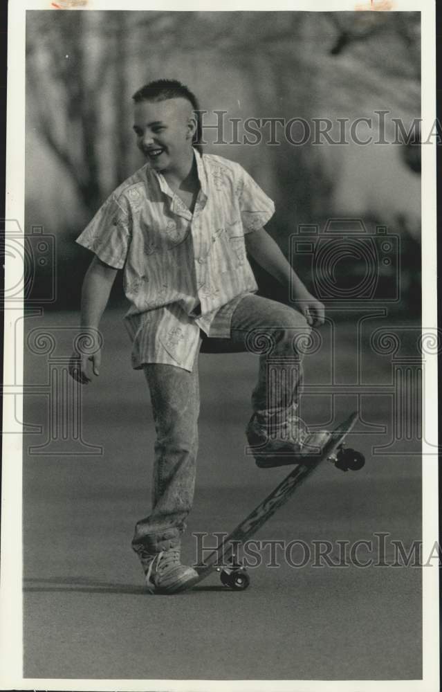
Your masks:
M 257 284 L 244 235 L 273 216 L 273 201 L 233 161 L 194 150 L 201 189 L 194 212 L 148 164 L 104 202 L 77 243 L 123 269 L 132 366 L 192 371 L 199 331 L 228 338 L 230 318 Z M 221 307 L 224 309 L 217 319 Z

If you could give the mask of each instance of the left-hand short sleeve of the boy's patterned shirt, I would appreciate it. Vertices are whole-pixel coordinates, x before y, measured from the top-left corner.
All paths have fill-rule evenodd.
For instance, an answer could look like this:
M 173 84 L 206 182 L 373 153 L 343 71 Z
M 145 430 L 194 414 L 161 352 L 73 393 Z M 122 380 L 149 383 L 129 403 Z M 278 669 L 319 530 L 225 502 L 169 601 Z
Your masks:
M 129 212 L 111 194 L 76 242 L 97 257 L 121 269 L 126 261 L 130 238 Z

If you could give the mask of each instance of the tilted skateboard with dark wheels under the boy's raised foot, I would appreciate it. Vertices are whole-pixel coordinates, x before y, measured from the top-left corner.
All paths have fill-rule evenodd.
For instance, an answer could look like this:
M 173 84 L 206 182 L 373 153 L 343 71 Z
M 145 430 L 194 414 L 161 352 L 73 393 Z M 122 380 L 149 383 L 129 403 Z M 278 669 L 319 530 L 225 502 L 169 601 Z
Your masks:
M 364 455 L 360 452 L 344 447 L 344 439 L 358 420 L 358 412 L 354 412 L 346 421 L 330 432 L 329 439 L 322 448 L 320 455 L 311 457 L 296 457 L 293 461 L 297 464 L 293 471 L 279 483 L 273 492 L 268 495 L 250 514 L 223 538 L 219 546 L 212 551 L 202 565 L 195 567 L 199 574 L 188 589 L 199 584 L 212 572 L 219 572 L 221 583 L 233 590 L 244 590 L 250 584 L 250 577 L 246 568 L 237 560 L 237 550 L 241 543 L 253 536 L 266 521 L 275 514 L 291 498 L 295 490 L 315 471 L 326 459 L 333 463 L 341 471 L 358 471 L 365 464 Z M 222 566 L 220 566 L 222 565 Z

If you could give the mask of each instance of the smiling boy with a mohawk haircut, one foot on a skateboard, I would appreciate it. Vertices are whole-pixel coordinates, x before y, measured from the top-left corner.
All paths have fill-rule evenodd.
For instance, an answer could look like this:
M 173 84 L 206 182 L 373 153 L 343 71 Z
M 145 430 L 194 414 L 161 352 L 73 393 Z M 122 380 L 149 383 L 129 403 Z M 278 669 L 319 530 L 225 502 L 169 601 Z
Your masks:
M 194 493 L 201 344 L 245 351 L 253 330 L 264 328 L 283 365 L 284 356 L 300 361 L 297 336 L 322 324 L 324 307 L 264 230 L 273 202 L 239 164 L 201 155 L 192 92 L 175 80 L 158 80 L 133 101 L 133 129 L 147 163 L 111 194 L 77 239 L 95 253 L 84 278 L 81 327 L 86 334 L 98 329 L 116 273 L 124 269 L 132 367 L 145 373 L 156 428 L 151 513 L 137 523 L 132 547 L 148 588 L 175 593 L 198 576 L 181 564 L 180 534 Z M 292 285 L 297 310 L 255 295 L 246 253 Z M 81 383 L 99 367 L 100 350 L 73 354 L 71 374 Z M 290 385 L 280 376 L 268 391 L 261 356 L 247 428 L 259 466 L 286 463 L 277 456 L 281 449 L 299 455 L 324 443 L 325 434 L 300 428 L 299 385 L 299 377 Z M 263 446 L 266 455 L 259 454 Z

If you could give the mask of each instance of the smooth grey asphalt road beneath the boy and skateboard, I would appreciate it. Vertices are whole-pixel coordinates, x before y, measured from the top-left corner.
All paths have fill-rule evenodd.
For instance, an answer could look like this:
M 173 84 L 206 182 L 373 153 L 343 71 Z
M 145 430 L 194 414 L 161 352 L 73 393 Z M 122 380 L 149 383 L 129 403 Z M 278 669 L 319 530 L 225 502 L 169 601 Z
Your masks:
M 27 327 L 53 334 L 53 360 L 68 353 L 68 327 L 76 323 L 74 313 L 48 313 L 27 320 Z M 365 453 L 365 467 L 342 473 L 323 464 L 256 536 L 284 545 L 304 541 L 311 549 L 304 567 L 288 564 L 284 547 L 278 566 L 266 567 L 269 547 L 263 547 L 263 564 L 250 569 L 244 592 L 226 590 L 213 574 L 191 592 L 152 596 L 130 547 L 133 525 L 149 509 L 149 397 L 142 374 L 131 370 L 120 313 L 107 313 L 103 330 L 100 378 L 82 394 L 82 443 L 53 441 L 24 460 L 24 676 L 418 680 L 421 570 L 391 566 L 393 539 L 409 547 L 421 538 L 418 446 L 408 440 L 407 455 L 373 453 L 391 435 L 392 394 L 370 393 L 370 386 L 388 383 L 391 358 L 374 356 L 369 334 L 363 335 L 365 424 L 350 444 Z M 337 334 L 333 376 L 352 383 L 354 325 L 338 325 Z M 329 336 L 324 329 L 324 344 L 306 357 L 307 385 L 331 382 Z M 26 437 L 29 447 L 48 435 L 49 361 L 48 354 L 26 351 L 26 383 L 42 385 L 42 392 L 27 398 L 24 419 L 44 426 Z M 57 368 L 62 361 L 53 363 Z M 192 534 L 230 531 L 288 473 L 258 469 L 244 455 L 256 365 L 249 354 L 201 356 L 199 475 L 183 544 L 190 562 L 196 560 Z M 305 401 L 309 422 L 327 421 L 329 394 L 313 392 Z M 356 395 L 341 393 L 335 406 L 338 422 L 355 408 Z M 369 428 L 386 423 L 383 434 Z M 91 451 L 87 444 L 103 453 L 78 454 Z M 384 567 L 376 566 L 380 533 L 389 534 Z M 338 541 L 371 541 L 372 549 L 360 545 L 357 556 L 372 564 L 315 566 L 320 540 L 331 541 L 334 561 Z M 291 556 L 300 562 L 304 555 Z

